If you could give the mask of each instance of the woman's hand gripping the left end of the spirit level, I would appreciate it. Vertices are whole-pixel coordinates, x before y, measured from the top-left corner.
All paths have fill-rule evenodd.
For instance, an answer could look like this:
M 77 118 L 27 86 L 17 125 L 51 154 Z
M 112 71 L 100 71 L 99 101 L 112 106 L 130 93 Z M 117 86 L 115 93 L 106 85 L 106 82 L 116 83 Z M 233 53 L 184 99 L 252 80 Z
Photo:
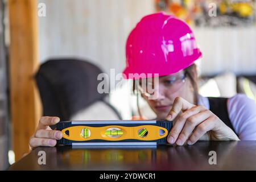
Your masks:
M 59 121 L 60 118 L 58 117 L 42 117 L 34 135 L 30 138 L 30 148 L 33 149 L 39 146 L 55 146 L 57 140 L 61 139 L 63 136 L 61 131 L 52 130 L 49 126 L 55 125 Z

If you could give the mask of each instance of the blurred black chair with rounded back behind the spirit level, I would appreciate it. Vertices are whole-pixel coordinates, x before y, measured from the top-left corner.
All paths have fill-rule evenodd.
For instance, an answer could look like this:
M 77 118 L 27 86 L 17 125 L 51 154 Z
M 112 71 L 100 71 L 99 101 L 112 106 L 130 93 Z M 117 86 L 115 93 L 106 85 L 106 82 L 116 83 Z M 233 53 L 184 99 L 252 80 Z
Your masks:
M 100 73 L 102 71 L 96 65 L 80 59 L 51 59 L 40 65 L 35 78 L 43 104 L 43 115 L 69 121 L 74 114 L 100 101 L 113 110 L 118 119 L 122 119 L 118 111 L 105 100 L 108 94 L 97 91 L 101 81 L 97 80 L 97 76 Z

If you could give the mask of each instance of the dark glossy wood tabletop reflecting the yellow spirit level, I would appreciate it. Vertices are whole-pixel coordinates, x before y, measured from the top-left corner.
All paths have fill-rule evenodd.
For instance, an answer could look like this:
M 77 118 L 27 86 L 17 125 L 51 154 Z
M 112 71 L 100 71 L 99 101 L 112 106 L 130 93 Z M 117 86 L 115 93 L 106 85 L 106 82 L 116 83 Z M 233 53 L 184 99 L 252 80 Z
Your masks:
M 45 151 L 46 164 L 38 163 L 42 155 L 39 151 Z M 217 164 L 209 164 L 214 153 L 210 151 L 216 152 Z M 38 147 L 9 170 L 256 170 L 256 141 L 200 141 L 192 146 Z

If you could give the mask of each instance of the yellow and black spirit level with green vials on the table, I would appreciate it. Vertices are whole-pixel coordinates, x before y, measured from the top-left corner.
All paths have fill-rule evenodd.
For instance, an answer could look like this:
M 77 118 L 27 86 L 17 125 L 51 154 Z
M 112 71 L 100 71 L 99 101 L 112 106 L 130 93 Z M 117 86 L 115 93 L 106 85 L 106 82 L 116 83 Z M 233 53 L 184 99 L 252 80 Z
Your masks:
M 172 122 L 156 120 L 64 121 L 57 123 L 63 138 L 58 144 L 72 146 L 164 144 Z

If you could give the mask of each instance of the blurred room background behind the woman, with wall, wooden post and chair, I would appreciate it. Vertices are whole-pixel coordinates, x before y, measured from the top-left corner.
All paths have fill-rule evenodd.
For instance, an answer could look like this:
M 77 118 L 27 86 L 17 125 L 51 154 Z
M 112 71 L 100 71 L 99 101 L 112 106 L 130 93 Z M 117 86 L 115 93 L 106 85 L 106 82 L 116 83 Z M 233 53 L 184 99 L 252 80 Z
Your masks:
M 131 83 L 118 86 L 107 77 L 125 68 L 136 23 L 158 11 L 192 27 L 203 52 L 200 94 L 244 93 L 256 101 L 255 9 L 253 0 L 0 0 L 0 169 L 28 152 L 42 115 L 63 121 L 138 115 Z M 109 94 L 97 92 L 100 73 Z

